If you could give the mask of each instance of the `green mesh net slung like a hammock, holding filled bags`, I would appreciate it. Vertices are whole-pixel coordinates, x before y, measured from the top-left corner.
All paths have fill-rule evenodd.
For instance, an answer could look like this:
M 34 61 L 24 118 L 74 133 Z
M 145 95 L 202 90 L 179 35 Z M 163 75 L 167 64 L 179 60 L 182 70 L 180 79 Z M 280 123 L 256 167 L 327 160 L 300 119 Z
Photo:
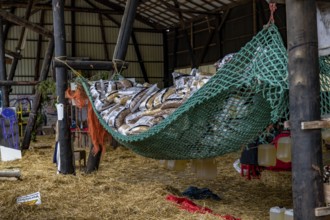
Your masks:
M 321 61 L 328 67 L 326 59 Z M 269 123 L 288 117 L 287 77 L 286 49 L 276 26 L 270 25 L 173 114 L 148 131 L 125 136 L 98 117 L 116 140 L 145 157 L 215 157 L 240 149 Z M 88 84 L 82 84 L 92 100 Z M 322 100 L 329 105 L 328 95 Z

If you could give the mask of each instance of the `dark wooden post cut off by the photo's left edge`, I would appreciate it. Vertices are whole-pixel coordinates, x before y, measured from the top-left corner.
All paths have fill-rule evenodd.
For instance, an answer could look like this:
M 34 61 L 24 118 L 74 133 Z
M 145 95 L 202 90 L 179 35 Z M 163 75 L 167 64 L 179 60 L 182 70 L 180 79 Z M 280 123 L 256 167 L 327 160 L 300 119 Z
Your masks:
M 6 61 L 5 61 L 5 42 L 3 36 L 2 18 L 0 18 L 0 80 L 6 80 Z M 2 107 L 9 106 L 9 97 L 7 93 L 7 86 L 1 86 L 1 101 Z

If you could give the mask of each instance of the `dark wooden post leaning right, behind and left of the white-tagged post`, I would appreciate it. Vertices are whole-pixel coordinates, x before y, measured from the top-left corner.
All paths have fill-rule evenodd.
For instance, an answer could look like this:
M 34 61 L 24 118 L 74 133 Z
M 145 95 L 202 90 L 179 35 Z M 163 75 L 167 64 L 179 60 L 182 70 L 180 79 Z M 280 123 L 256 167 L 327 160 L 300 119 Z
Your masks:
M 48 72 L 49 72 L 49 67 L 50 63 L 53 58 L 53 52 L 54 52 L 54 38 L 51 38 L 48 43 L 48 49 L 45 53 L 45 57 L 42 63 L 42 68 L 41 68 L 41 73 L 39 76 L 39 81 L 44 81 L 47 79 Z M 30 142 L 31 142 L 31 134 L 34 129 L 34 126 L 37 121 L 37 113 L 40 108 L 40 103 L 41 103 L 41 93 L 37 91 L 34 95 L 33 102 L 32 102 L 32 107 L 31 107 L 31 112 L 29 114 L 29 119 L 27 126 L 24 131 L 24 138 L 22 141 L 22 149 L 26 150 L 29 149 L 30 147 Z

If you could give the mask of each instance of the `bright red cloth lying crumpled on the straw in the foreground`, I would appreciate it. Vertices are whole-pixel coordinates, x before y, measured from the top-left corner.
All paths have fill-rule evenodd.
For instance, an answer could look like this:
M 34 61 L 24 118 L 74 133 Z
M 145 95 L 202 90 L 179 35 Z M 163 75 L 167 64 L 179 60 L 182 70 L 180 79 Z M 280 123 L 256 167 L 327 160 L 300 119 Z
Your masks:
M 219 216 L 225 220 L 240 220 L 239 218 L 235 218 L 231 215 L 214 214 L 211 209 L 209 209 L 207 207 L 199 206 L 187 198 L 180 198 L 180 197 L 176 197 L 174 195 L 168 195 L 168 196 L 166 196 L 166 200 L 178 204 L 181 209 L 187 210 L 188 212 L 201 213 L 201 214 L 211 213 L 211 214 L 213 214 L 215 216 Z

